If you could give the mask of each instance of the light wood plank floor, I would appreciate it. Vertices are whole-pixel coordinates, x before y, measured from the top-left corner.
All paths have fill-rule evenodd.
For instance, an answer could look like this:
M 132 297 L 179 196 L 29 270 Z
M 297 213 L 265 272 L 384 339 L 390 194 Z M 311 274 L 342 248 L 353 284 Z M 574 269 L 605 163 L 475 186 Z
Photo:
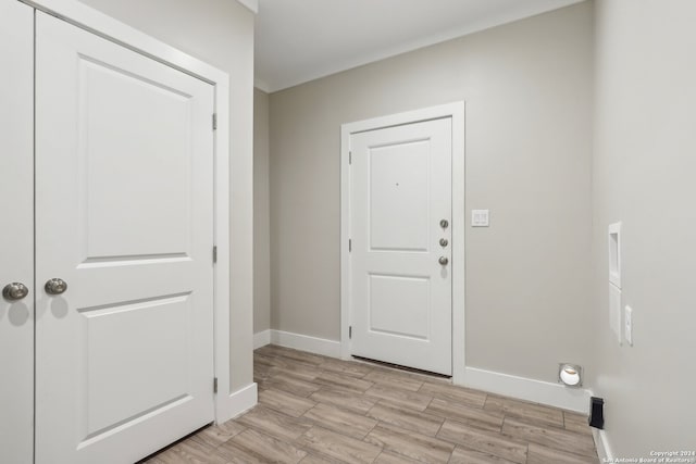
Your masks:
M 268 346 L 254 379 L 258 406 L 148 463 L 598 463 L 585 416 L 440 378 Z

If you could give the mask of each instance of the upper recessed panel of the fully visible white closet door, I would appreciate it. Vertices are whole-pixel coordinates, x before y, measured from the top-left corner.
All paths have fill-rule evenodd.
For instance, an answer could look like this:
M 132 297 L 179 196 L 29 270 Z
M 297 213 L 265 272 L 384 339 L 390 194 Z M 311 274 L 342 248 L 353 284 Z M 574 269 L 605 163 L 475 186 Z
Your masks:
M 86 57 L 78 67 L 85 258 L 187 253 L 191 96 Z

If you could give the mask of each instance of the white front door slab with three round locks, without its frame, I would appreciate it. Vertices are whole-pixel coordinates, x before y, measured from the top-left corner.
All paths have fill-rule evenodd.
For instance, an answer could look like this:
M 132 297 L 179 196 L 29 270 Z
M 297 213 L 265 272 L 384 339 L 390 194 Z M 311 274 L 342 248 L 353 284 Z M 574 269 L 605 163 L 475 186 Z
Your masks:
M 451 375 L 451 118 L 349 143 L 351 354 Z

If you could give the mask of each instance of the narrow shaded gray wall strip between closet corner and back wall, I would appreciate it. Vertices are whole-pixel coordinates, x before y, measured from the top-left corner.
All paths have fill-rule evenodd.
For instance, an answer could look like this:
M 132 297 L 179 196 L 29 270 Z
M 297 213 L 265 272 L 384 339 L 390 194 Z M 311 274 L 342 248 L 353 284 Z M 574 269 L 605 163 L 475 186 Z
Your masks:
M 253 89 L 253 333 L 271 328 L 269 96 Z

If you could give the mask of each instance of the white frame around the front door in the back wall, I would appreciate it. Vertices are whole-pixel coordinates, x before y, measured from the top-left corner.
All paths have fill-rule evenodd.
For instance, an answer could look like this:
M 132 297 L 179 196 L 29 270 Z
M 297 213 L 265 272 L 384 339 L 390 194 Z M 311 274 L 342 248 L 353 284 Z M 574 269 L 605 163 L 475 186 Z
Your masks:
M 350 359 L 351 309 L 350 137 L 353 134 L 432 120 L 452 121 L 452 383 L 464 384 L 464 102 L 430 106 L 340 126 L 340 356 Z

